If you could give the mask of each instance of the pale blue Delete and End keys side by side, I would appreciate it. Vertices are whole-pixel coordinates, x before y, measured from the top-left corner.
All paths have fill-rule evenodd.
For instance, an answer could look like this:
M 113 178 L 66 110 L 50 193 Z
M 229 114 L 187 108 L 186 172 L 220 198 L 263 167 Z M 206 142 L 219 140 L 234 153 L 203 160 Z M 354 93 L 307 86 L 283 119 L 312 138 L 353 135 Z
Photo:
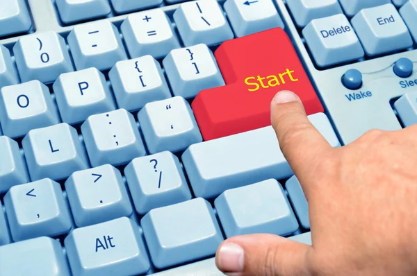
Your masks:
M 407 7 L 401 8 L 400 12 L 404 8 Z M 417 8 L 414 10 L 414 14 L 411 7 L 405 12 L 407 24 L 414 20 L 414 15 L 417 16 Z M 358 60 L 365 52 L 368 56 L 381 55 L 413 45 L 409 29 L 392 4 L 363 9 L 351 23 L 345 15 L 338 14 L 313 19 L 302 30 L 319 67 Z M 411 24 L 409 28 L 411 32 L 416 29 Z

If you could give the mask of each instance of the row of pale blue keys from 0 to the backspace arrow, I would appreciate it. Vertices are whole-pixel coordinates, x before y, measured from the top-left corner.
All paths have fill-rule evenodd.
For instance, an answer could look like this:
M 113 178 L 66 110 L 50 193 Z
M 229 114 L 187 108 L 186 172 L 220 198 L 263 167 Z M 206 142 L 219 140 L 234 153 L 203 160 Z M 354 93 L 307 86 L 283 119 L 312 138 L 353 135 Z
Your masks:
M 60 0 L 56 4 L 59 10 L 63 10 L 61 12 L 63 14 L 68 13 L 70 17 L 85 17 L 85 13 L 97 12 L 102 15 L 107 12 L 105 7 L 108 6 L 108 3 L 106 2 L 90 0 L 80 3 Z M 230 12 L 232 26 L 237 36 L 249 35 L 278 26 L 284 27 L 271 0 L 264 0 L 261 3 L 247 3 L 229 0 L 224 6 L 228 10 L 227 12 Z M 81 9 L 81 6 L 89 6 L 90 8 Z M 93 6 L 96 8 L 91 8 Z M 253 9 L 259 12 L 254 13 Z M 254 16 L 255 14 L 256 16 Z M 61 16 L 66 17 L 67 15 Z M 173 17 L 186 47 L 201 43 L 208 46 L 218 45 L 225 40 L 234 38 L 234 33 L 231 31 L 218 1 L 182 3 L 174 12 Z M 179 39 L 172 28 L 172 22 L 161 9 L 129 15 L 122 22 L 120 30 L 131 58 L 140 58 L 143 55 L 164 58 L 172 49 L 180 48 Z M 22 82 L 40 80 L 42 83 L 53 83 L 60 74 L 74 71 L 74 69 L 96 67 L 99 71 L 106 71 L 111 69 L 116 62 L 127 59 L 119 31 L 106 19 L 74 26 L 67 36 L 67 43 L 75 67 L 72 65 L 65 40 L 61 35 L 50 31 L 21 37 L 15 44 L 13 52 Z M 191 51 L 191 55 L 193 51 L 188 50 Z M 0 62 L 0 87 L 19 81 L 9 55 L 9 53 L 0 55 L 0 61 L 3 61 Z M 197 57 L 196 53 L 195 58 Z M 204 53 L 204 58 L 208 58 L 206 53 Z M 202 62 L 204 61 L 206 60 L 202 59 Z M 5 65 L 1 66 L 2 63 Z M 197 62 L 189 63 L 195 64 Z M 195 66 L 190 74 L 193 71 L 196 71 L 196 74 L 204 74 L 204 72 L 198 73 L 201 68 L 197 68 L 198 65 Z M 1 67 L 5 67 L 6 70 L 1 70 Z M 138 69 L 138 71 L 140 70 Z M 190 94 L 195 94 L 195 92 Z M 188 98 L 188 96 L 184 97 Z

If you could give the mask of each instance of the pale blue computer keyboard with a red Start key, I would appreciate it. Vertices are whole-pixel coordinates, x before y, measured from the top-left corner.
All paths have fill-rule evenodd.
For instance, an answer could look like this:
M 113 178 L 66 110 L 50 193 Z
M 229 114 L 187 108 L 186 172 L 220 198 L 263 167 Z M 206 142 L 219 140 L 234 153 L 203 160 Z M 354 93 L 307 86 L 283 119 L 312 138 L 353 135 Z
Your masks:
M 417 0 L 0 0 L 0 275 L 222 275 L 230 236 L 311 244 L 270 126 L 333 147 L 417 123 Z

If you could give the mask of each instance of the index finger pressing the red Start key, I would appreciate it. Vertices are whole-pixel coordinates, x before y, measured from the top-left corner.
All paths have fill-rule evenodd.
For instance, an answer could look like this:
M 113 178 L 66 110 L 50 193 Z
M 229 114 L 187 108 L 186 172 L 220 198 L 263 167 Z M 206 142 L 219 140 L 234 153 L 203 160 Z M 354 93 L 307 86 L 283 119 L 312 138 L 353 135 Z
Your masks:
M 284 157 L 305 185 L 303 178 L 311 175 L 320 156 L 332 146 L 309 121 L 300 98 L 291 91 L 278 92 L 272 99 L 271 123 Z M 308 187 L 303 190 L 308 192 Z

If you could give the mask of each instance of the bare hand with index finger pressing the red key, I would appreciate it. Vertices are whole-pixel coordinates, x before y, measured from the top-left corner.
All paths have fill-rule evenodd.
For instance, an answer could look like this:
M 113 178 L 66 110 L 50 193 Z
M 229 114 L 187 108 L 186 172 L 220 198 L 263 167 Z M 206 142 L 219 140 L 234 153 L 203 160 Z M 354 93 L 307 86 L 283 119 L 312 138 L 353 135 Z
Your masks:
M 271 121 L 309 202 L 312 246 L 271 234 L 234 236 L 218 248 L 219 270 L 234 276 L 417 275 L 417 125 L 370 130 L 332 148 L 289 91 L 272 100 Z

